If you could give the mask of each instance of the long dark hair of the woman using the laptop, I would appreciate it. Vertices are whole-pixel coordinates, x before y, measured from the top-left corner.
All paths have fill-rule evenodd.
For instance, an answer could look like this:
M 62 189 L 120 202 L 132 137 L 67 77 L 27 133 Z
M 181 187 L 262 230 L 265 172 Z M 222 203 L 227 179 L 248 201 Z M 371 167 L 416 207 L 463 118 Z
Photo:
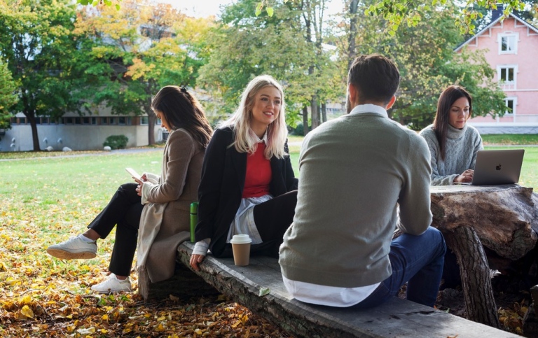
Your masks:
M 439 101 L 437 101 L 437 111 L 435 113 L 434 119 L 434 132 L 439 142 L 439 153 L 441 155 L 441 160 L 445 160 L 446 155 L 446 134 L 448 133 L 448 123 L 450 117 L 450 107 L 454 104 L 457 99 L 462 97 L 467 97 L 469 101 L 469 116 L 473 112 L 473 99 L 471 95 L 464 87 L 460 85 L 450 85 L 448 86 L 441 95 L 439 96 Z

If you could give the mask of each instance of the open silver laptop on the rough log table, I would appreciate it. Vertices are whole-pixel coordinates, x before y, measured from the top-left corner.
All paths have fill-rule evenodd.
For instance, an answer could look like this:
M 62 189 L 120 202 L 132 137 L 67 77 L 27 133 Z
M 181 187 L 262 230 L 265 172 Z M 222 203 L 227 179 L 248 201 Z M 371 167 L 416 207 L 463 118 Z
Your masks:
M 518 183 L 524 153 L 524 149 L 478 150 L 473 181 L 467 184 L 499 185 Z

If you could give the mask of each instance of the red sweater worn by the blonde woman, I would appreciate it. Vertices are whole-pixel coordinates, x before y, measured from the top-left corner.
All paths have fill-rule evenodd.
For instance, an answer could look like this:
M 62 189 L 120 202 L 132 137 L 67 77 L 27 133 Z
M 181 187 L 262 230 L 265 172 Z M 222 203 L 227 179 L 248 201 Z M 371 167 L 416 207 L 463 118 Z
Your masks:
M 242 198 L 260 197 L 269 194 L 271 182 L 271 161 L 263 156 L 265 143 L 258 143 L 256 152 L 247 155 L 247 174 L 244 177 Z

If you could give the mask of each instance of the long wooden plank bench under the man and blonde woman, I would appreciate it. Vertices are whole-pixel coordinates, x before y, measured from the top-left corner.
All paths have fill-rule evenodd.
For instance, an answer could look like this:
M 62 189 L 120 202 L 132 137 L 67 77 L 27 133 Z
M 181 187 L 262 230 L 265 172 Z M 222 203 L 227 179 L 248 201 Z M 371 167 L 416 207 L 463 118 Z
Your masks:
M 178 259 L 189 266 L 194 244 L 178 248 Z M 230 299 L 244 305 L 296 337 L 520 337 L 487 325 L 394 297 L 374 309 L 322 307 L 290 297 L 275 258 L 252 257 L 247 267 L 236 267 L 233 258 L 207 255 L 201 277 Z M 184 276 L 183 278 L 186 278 Z M 178 285 L 170 290 L 185 290 Z

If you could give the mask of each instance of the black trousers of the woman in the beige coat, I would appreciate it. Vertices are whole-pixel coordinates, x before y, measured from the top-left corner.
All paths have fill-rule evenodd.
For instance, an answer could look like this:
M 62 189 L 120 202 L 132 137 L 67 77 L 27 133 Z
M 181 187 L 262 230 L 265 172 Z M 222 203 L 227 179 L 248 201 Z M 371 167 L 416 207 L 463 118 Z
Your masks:
M 88 225 L 88 228 L 95 230 L 102 239 L 116 226 L 116 242 L 109 271 L 118 276 L 131 274 L 132 260 L 137 249 L 138 228 L 144 205 L 136 188 L 137 183 L 120 185 L 109 204 Z

